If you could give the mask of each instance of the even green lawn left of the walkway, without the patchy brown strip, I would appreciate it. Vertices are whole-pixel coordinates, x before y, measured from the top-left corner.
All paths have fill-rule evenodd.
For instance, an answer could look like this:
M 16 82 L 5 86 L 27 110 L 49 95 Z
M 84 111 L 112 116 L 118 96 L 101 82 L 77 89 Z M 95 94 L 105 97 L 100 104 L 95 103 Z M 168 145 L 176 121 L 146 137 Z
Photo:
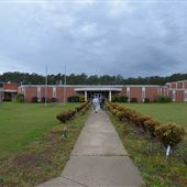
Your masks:
M 0 157 L 22 151 L 59 122 L 56 114 L 78 103 L 48 105 L 3 102 L 0 105 Z

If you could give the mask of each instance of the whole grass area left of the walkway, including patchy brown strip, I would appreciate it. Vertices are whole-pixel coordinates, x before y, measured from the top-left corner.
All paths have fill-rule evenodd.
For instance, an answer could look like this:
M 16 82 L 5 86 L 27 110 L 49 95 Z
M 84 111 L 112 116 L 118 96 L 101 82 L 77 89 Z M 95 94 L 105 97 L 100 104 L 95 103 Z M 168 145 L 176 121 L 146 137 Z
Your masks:
M 89 111 L 65 123 L 56 114 L 78 105 L 0 106 L 0 186 L 32 187 L 61 175 Z

